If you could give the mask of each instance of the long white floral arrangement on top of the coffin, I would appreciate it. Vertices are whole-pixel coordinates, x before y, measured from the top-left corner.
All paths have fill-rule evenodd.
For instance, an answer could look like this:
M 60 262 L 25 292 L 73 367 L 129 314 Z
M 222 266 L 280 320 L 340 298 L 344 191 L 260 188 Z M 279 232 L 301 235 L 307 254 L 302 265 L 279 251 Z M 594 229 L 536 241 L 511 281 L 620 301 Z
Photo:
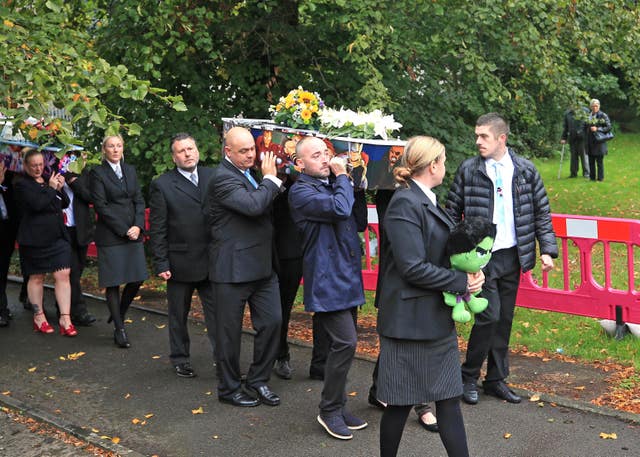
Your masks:
M 325 108 L 320 113 L 320 131 L 329 136 L 351 138 L 382 138 L 387 140 L 402 124 L 396 122 L 393 114 L 385 115 L 379 109 L 370 113 L 356 112 L 340 108 Z

